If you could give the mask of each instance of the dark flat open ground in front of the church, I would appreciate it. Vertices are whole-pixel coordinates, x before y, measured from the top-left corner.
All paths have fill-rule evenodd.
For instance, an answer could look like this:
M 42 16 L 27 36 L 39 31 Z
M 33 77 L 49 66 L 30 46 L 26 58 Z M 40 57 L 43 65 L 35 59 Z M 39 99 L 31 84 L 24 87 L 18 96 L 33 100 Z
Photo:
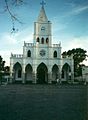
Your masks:
M 0 120 L 88 120 L 88 86 L 0 86 Z

